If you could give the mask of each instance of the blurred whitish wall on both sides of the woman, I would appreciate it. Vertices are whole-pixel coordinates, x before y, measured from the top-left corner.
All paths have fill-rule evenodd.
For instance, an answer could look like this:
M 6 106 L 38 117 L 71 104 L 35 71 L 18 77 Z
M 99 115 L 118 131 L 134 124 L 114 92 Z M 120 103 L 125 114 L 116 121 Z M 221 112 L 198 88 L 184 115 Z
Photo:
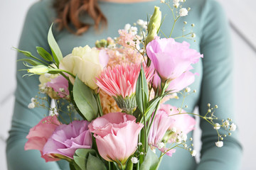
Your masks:
M 189 0 L 188 0 L 189 1 Z M 235 111 L 243 145 L 242 169 L 256 169 L 256 1 L 218 0 L 230 21 L 235 58 Z M 23 21 L 36 0 L 2 1 L 0 6 L 0 169 L 6 170 L 5 147 L 14 107 L 16 52 Z M 36 46 L 36 45 L 35 45 Z M 200 132 L 196 132 L 200 135 Z M 200 139 L 200 137 L 196 137 Z M 198 147 L 198 146 L 197 146 Z

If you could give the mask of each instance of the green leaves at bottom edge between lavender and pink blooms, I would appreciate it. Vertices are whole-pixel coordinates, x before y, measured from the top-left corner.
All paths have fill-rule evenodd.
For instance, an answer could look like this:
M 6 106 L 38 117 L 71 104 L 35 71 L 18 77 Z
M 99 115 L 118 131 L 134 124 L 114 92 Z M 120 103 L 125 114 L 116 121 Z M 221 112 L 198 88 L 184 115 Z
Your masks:
M 95 149 L 77 149 L 74 161 L 81 170 L 107 170 L 105 164 L 97 157 Z

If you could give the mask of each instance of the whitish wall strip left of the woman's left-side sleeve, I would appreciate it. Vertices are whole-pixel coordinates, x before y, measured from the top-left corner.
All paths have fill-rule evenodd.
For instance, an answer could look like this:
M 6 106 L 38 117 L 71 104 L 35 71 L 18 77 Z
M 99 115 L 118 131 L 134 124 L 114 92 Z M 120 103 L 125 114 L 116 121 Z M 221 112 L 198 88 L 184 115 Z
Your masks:
M 6 170 L 5 142 L 11 125 L 14 107 L 15 62 L 16 52 L 11 47 L 18 47 L 23 21 L 28 7 L 36 0 L 8 0 L 0 5 L 0 169 Z

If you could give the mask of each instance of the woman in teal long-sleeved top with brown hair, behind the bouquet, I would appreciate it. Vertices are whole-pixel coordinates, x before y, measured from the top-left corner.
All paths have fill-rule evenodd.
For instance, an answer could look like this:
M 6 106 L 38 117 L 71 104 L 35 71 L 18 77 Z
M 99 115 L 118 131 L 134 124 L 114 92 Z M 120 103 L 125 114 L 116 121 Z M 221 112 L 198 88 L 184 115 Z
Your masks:
M 101 0 L 96 3 L 93 0 L 85 1 L 83 6 L 87 13 L 82 13 L 78 19 L 75 16 L 82 3 L 78 0 L 63 1 L 39 1 L 31 6 L 26 16 L 23 32 L 19 43 L 19 49 L 27 50 L 36 54 L 35 46 L 41 46 L 50 51 L 47 42 L 47 33 L 50 24 L 58 18 L 58 26 L 62 30 L 55 29 L 55 39 L 63 52 L 68 55 L 73 47 L 90 45 L 94 46 L 95 40 L 117 36 L 117 30 L 124 28 L 126 23 L 135 23 L 138 19 L 146 20 L 147 13 L 153 13 L 154 6 L 159 6 L 162 13 L 168 14 L 161 30 L 167 35 L 171 31 L 173 19 L 169 8 L 160 4 L 159 0 Z M 53 7 L 53 4 L 54 7 Z M 64 4 L 64 5 L 63 5 Z M 95 5 L 95 4 L 98 4 Z M 194 65 L 193 72 L 200 75 L 190 86 L 198 92 L 186 98 L 186 111 L 192 112 L 198 106 L 203 115 L 207 112 L 207 103 L 219 106 L 215 115 L 219 120 L 233 118 L 233 92 L 232 92 L 232 56 L 230 54 L 230 38 L 228 22 L 222 8 L 214 0 L 190 0 L 185 7 L 191 7 L 189 15 L 181 18 L 176 23 L 176 28 L 183 27 L 183 21 L 194 23 L 193 32 L 196 33 L 196 42 L 187 40 L 191 48 L 200 51 L 204 58 Z M 99 7 L 99 8 L 98 8 Z M 67 21 L 61 16 L 74 15 Z M 88 13 L 90 15 L 88 15 Z M 90 23 L 91 26 L 81 24 Z M 107 26 L 105 23 L 107 21 Z M 68 24 L 65 24 L 68 22 Z M 68 27 L 67 27 L 68 26 Z M 105 27 L 104 27 L 105 26 Z M 98 28 L 98 29 L 95 29 Z M 189 29 L 189 26 L 186 27 Z M 100 30 L 100 31 L 95 31 Z M 73 32 L 73 33 L 71 33 Z M 77 34 L 77 35 L 75 35 Z M 180 29 L 174 30 L 172 37 L 182 34 Z M 79 35 L 79 36 L 78 36 Z M 186 39 L 177 39 L 182 42 Z M 22 58 L 18 54 L 18 58 Z M 17 69 L 24 69 L 23 64 L 18 62 Z M 14 116 L 7 142 L 7 161 L 9 169 L 68 169 L 67 162 L 45 163 L 40 153 L 35 150 L 24 151 L 26 135 L 44 115 L 46 109 L 28 109 L 31 97 L 38 93 L 38 77 L 23 77 L 23 72 L 17 72 L 17 89 Z M 171 100 L 168 103 L 180 106 L 179 101 Z M 173 157 L 164 157 L 159 169 L 239 169 L 241 147 L 236 134 L 225 137 L 224 147 L 215 147 L 217 134 L 206 121 L 202 121 L 202 150 L 201 162 L 196 164 L 186 150 L 178 150 Z M 188 135 L 191 137 L 192 133 Z

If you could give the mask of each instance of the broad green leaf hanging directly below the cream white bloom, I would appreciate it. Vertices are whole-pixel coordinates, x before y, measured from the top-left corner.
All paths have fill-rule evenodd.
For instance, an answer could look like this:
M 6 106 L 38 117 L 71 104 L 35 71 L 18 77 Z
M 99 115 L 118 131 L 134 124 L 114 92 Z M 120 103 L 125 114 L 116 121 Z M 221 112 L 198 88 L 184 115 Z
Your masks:
M 92 93 L 92 89 L 86 86 L 78 77 L 75 78 L 73 96 L 76 106 L 78 106 L 86 120 L 92 121 L 97 118 L 97 101 Z

